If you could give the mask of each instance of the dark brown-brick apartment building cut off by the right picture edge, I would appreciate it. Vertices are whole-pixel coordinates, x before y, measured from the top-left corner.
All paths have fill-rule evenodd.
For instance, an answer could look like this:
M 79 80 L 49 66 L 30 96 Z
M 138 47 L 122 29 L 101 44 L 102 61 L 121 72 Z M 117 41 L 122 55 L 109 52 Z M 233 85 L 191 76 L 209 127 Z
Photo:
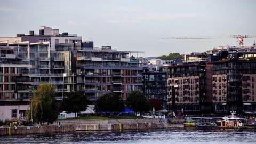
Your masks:
M 209 74 L 207 83 L 212 83 L 212 102 L 215 113 L 236 110 L 237 113 L 242 114 L 256 111 L 254 94 L 256 61 L 229 59 L 209 62 L 206 67 L 212 68 L 212 74 Z M 208 92 L 211 93 L 210 90 Z

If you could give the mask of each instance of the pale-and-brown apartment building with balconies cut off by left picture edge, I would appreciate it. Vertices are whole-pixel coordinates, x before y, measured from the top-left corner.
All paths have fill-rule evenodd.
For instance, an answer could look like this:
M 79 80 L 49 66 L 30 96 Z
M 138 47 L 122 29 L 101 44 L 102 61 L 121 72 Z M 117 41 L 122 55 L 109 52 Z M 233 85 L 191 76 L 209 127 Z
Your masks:
M 33 91 L 28 71 L 32 65 L 22 61 L 17 47 L 0 46 L 0 119 L 25 119 Z

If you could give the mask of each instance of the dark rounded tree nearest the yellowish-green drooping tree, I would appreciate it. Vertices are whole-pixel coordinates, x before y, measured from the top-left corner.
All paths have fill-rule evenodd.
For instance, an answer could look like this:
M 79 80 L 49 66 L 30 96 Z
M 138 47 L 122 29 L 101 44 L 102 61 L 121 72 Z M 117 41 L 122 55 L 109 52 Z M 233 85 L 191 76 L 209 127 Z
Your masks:
M 67 113 L 78 113 L 87 109 L 87 98 L 83 92 L 70 92 L 64 97 L 62 102 L 62 110 Z

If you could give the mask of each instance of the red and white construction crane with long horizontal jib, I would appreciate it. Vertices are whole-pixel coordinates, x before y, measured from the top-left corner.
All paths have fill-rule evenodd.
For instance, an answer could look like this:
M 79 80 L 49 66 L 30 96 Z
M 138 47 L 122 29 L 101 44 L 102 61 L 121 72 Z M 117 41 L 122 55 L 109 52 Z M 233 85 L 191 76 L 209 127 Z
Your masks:
M 256 38 L 251 35 L 229 35 L 229 36 L 195 36 L 195 37 L 166 37 L 161 39 L 220 39 L 220 38 L 236 38 L 239 41 L 239 45 L 244 45 L 244 38 Z

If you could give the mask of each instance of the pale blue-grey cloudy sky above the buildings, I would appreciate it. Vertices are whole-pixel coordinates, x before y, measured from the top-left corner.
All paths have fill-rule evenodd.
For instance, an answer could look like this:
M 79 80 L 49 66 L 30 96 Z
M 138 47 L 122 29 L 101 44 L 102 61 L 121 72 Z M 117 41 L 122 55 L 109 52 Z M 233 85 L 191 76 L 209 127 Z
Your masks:
M 162 37 L 256 35 L 255 0 L 0 0 L 0 37 L 39 33 L 40 26 L 77 34 L 94 47 L 143 51 L 142 57 L 203 52 L 236 39 Z M 254 39 L 244 39 L 252 45 Z

